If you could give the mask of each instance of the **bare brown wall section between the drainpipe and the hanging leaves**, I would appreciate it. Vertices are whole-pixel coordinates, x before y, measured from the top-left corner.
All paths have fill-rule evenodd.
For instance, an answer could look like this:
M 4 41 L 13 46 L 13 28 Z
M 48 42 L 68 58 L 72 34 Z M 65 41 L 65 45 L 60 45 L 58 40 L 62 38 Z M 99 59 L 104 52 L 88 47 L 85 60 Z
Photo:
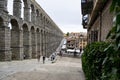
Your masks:
M 102 13 L 102 31 L 101 31 L 102 41 L 106 39 L 106 36 L 113 24 L 114 13 L 110 13 L 110 5 L 111 3 L 108 3 Z

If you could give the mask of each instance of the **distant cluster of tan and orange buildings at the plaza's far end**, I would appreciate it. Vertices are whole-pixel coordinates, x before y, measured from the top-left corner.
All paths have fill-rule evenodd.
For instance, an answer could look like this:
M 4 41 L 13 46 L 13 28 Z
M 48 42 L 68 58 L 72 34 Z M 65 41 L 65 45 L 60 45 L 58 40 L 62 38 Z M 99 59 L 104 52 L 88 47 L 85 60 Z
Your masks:
M 67 49 L 83 49 L 87 45 L 87 33 L 86 32 L 71 32 L 66 36 Z

